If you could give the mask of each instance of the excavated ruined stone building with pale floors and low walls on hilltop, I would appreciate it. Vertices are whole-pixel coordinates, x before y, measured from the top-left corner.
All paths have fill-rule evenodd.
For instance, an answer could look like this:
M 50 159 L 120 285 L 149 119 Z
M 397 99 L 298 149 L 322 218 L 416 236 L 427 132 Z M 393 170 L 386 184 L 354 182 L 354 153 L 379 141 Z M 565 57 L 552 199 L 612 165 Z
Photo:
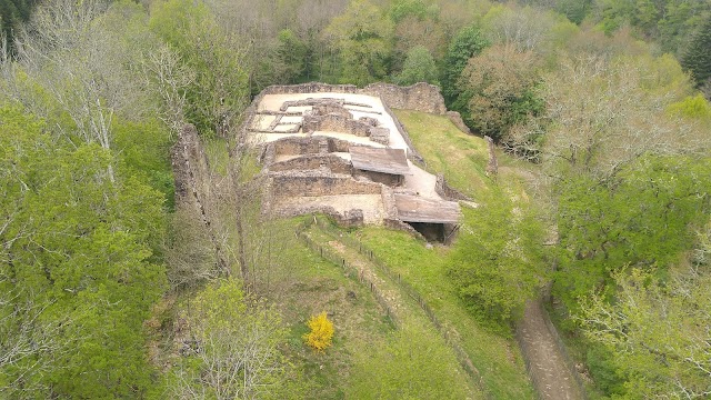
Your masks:
M 457 199 L 422 159 L 390 107 L 444 114 L 437 87 L 308 83 L 267 88 L 248 110 L 242 140 L 260 149 L 264 208 L 323 212 L 341 223 L 385 224 L 444 241 Z

